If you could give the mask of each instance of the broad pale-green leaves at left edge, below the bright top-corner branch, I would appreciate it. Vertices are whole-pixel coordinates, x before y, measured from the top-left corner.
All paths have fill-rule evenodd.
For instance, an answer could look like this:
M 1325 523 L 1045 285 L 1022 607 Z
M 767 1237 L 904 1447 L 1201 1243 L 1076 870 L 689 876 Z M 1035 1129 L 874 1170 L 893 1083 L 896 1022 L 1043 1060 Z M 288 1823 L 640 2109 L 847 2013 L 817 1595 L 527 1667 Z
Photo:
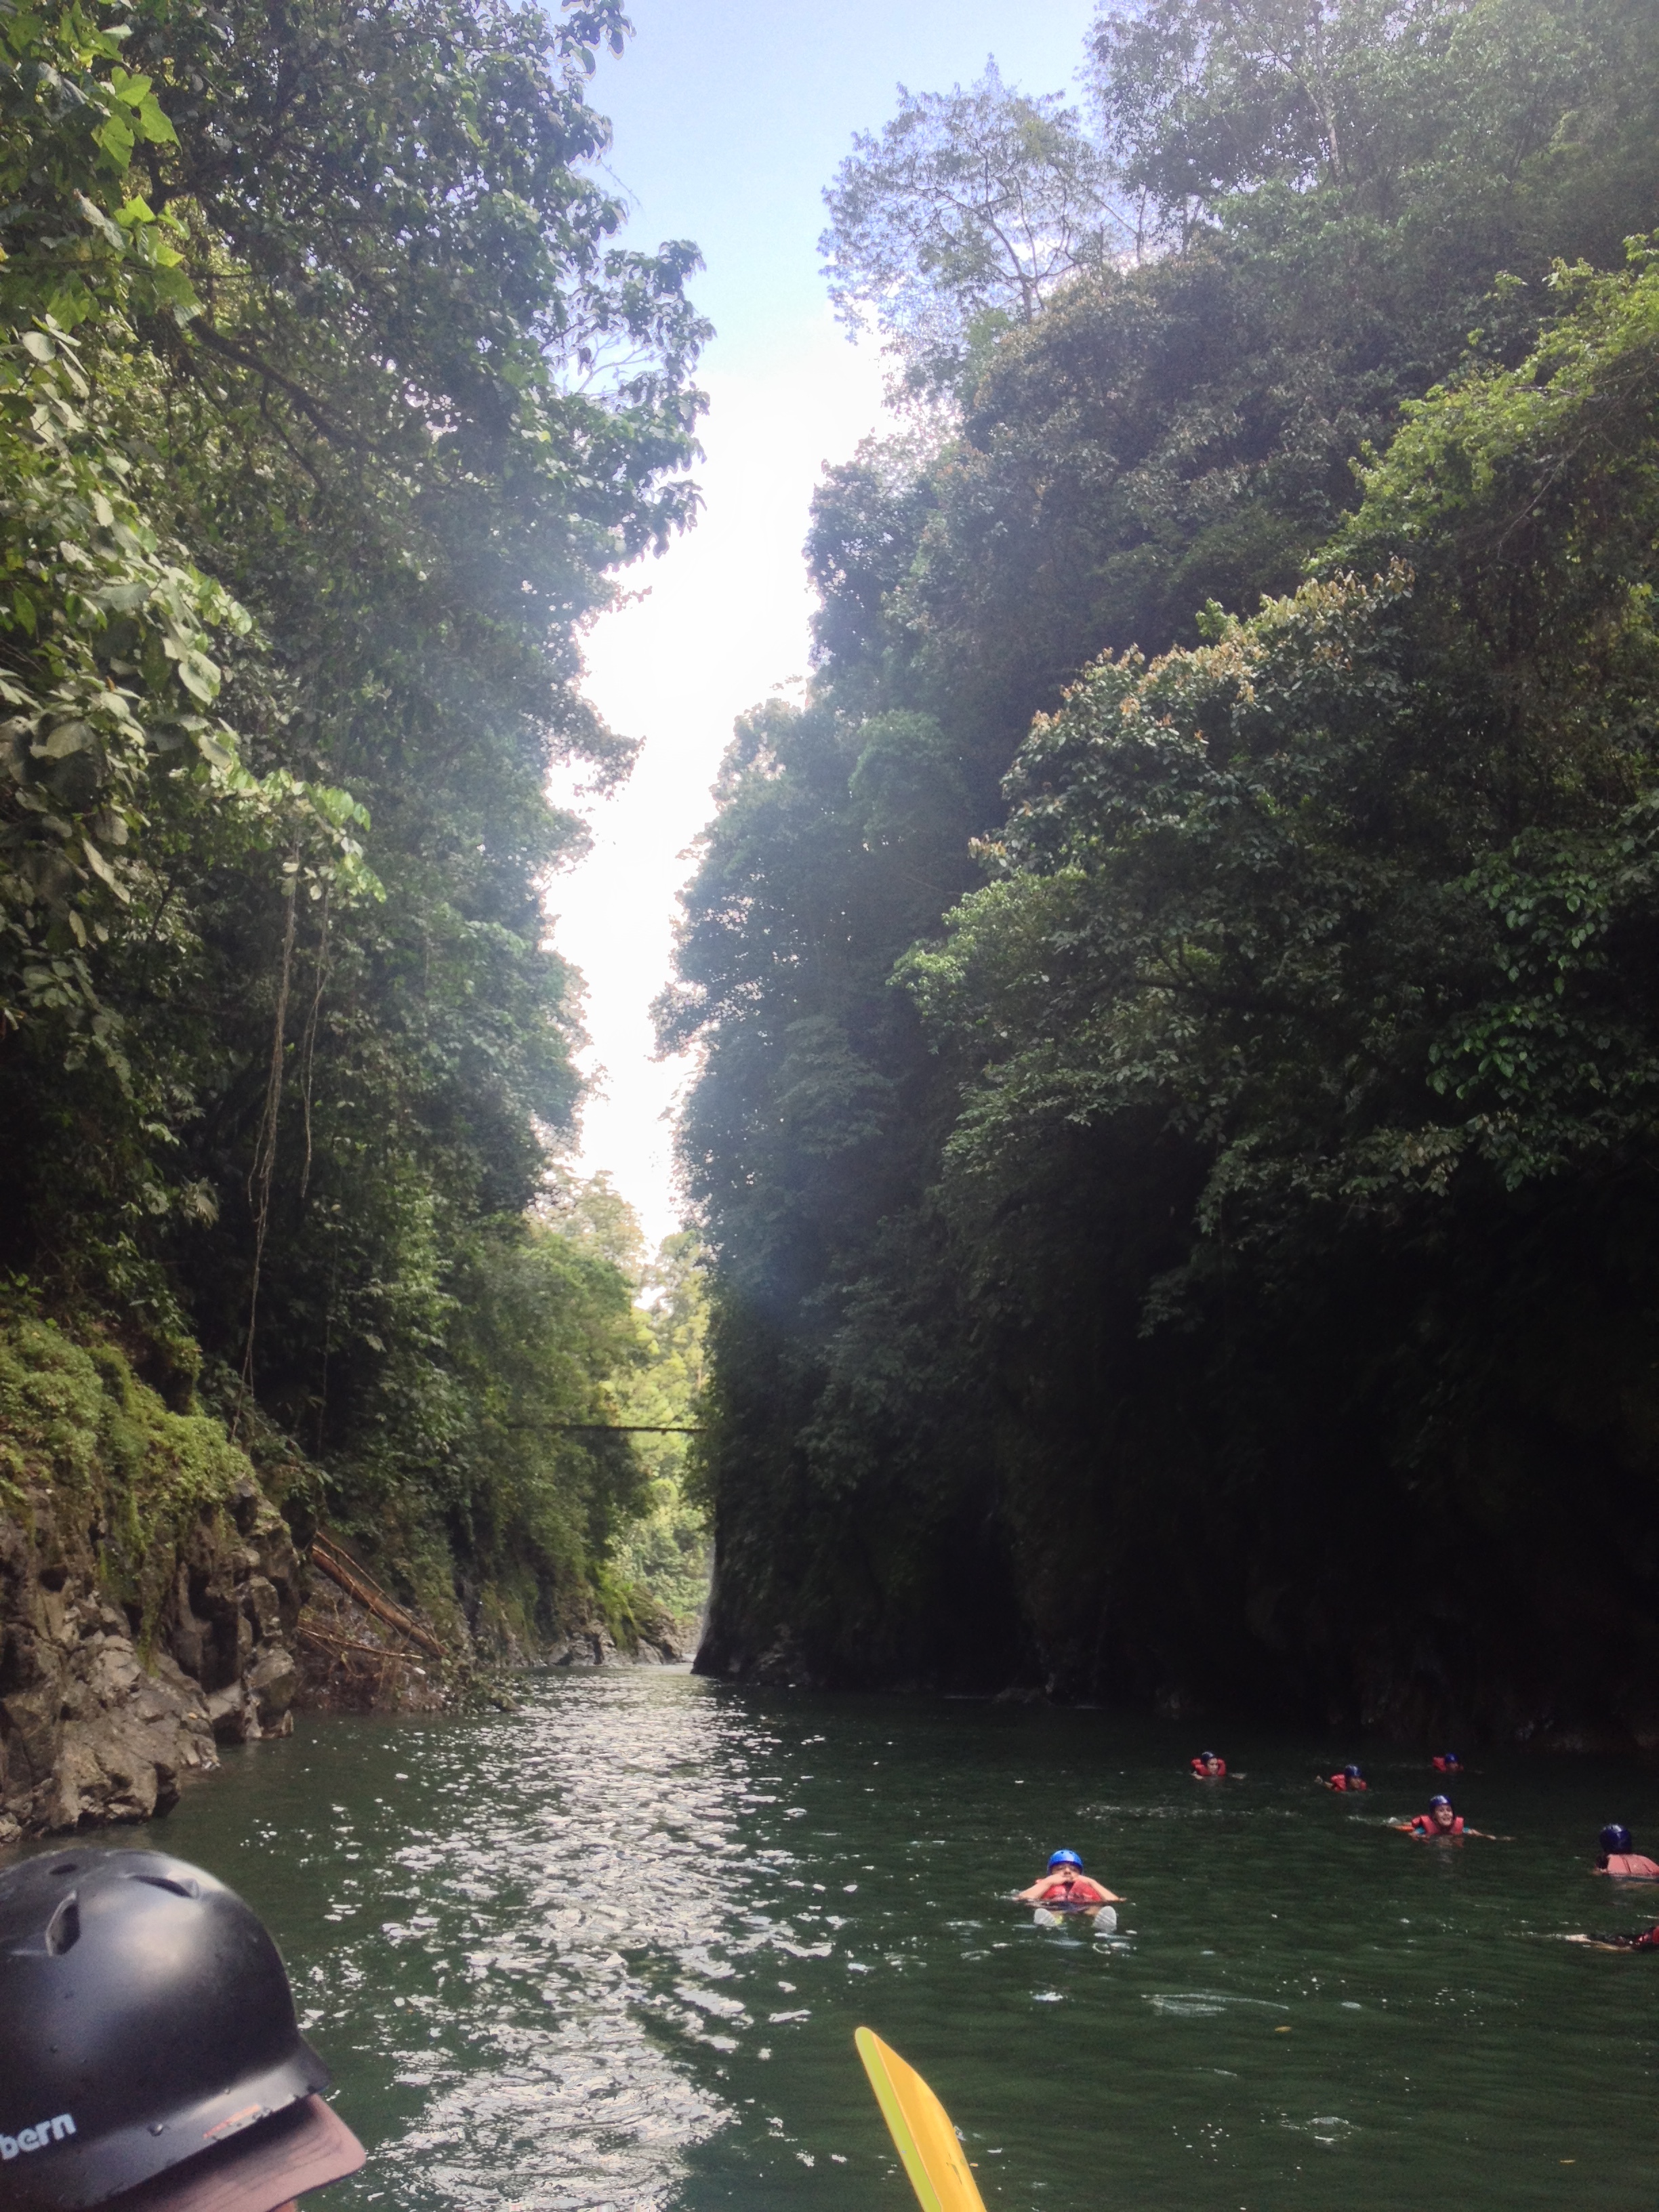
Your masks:
M 248 615 L 166 557 L 126 460 L 88 425 L 77 352 L 55 323 L 0 349 L 0 1033 L 49 1015 L 75 1040 L 71 1066 L 93 1042 L 126 1073 L 93 962 L 153 925 L 155 845 L 281 838 L 345 896 L 378 885 L 363 807 L 283 770 L 250 776 L 201 712 L 219 697 L 212 630 L 246 635 Z

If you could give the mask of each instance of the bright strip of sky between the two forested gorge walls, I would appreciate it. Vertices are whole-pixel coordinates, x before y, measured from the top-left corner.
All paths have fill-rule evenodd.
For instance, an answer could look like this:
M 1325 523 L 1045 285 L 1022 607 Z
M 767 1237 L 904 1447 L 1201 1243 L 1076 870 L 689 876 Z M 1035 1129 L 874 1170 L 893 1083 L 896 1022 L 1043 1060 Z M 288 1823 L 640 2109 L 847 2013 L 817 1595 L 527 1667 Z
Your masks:
M 653 1057 L 677 896 L 732 721 L 807 670 L 801 562 L 812 487 L 880 427 L 883 363 L 836 327 L 818 276 L 823 186 L 856 131 L 914 93 L 949 91 L 995 55 L 1026 93 L 1073 86 L 1088 0 L 635 0 L 635 38 L 591 88 L 611 115 L 628 243 L 695 239 L 690 285 L 717 336 L 695 471 L 703 515 L 624 577 L 630 602 L 588 641 L 586 690 L 644 739 L 622 794 L 591 812 L 593 849 L 549 896 L 560 951 L 586 978 L 584 1175 L 608 1172 L 653 1243 L 681 1221 L 670 1113 L 684 1062 Z

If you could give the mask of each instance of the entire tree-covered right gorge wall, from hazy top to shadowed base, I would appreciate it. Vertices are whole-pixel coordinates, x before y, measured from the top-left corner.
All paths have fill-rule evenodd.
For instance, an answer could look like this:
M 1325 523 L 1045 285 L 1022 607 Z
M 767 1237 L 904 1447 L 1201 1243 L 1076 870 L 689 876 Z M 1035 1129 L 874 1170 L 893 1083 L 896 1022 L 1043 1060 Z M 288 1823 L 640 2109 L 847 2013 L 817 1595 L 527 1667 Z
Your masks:
M 1102 15 L 1139 259 L 832 471 L 664 1006 L 710 1663 L 1659 1710 L 1648 18 Z

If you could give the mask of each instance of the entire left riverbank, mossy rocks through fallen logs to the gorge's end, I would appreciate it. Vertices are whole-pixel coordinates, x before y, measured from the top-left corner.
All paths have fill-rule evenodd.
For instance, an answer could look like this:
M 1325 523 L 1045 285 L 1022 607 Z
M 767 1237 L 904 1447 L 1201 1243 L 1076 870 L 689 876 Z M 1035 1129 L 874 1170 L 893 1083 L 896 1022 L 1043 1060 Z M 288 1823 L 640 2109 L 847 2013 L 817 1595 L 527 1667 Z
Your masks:
M 465 1710 L 529 1666 L 679 1657 L 644 1593 L 608 1621 L 575 1588 L 555 1639 L 487 1584 L 434 1621 L 358 1562 L 352 1597 L 290 1526 L 310 1544 L 319 1471 L 259 1422 L 232 1442 L 188 1363 L 148 1365 L 93 1327 L 0 1325 L 0 1845 L 166 1814 L 296 1710 Z

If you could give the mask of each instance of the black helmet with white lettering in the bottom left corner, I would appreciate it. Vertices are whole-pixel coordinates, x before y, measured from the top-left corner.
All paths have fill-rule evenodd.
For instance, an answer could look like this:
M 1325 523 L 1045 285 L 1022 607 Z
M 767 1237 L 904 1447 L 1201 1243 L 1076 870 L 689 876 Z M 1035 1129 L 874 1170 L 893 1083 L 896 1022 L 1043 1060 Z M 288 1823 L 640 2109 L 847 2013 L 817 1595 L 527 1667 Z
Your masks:
M 82 1849 L 0 1874 L 7 2212 L 88 2212 L 325 2086 L 276 1944 L 210 1874 Z

